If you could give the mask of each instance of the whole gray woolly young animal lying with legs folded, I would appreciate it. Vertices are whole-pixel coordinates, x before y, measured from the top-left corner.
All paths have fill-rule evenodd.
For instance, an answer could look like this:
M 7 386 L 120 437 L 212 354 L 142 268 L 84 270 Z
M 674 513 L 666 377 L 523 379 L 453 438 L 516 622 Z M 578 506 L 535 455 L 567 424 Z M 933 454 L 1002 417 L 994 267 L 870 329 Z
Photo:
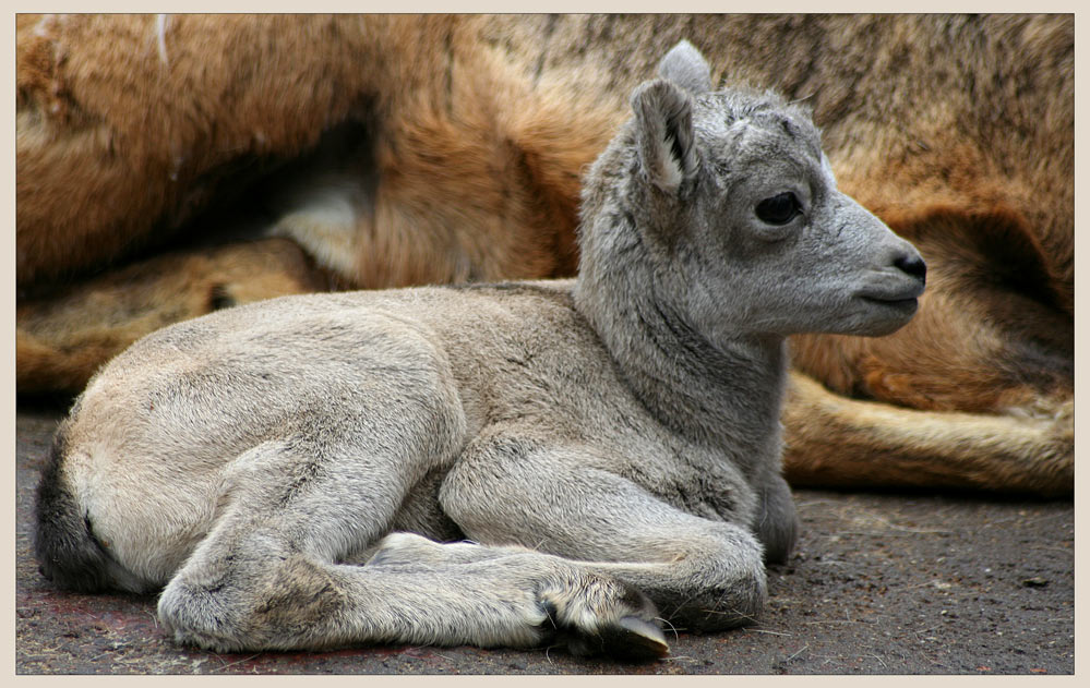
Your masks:
M 805 111 L 661 80 L 633 107 L 576 280 L 289 297 L 115 359 L 39 493 L 44 570 L 71 582 L 94 538 L 95 576 L 165 586 L 163 625 L 216 651 L 643 656 L 660 618 L 751 620 L 795 532 L 784 337 L 893 331 L 922 263 L 836 190 Z M 788 191 L 798 216 L 758 219 Z

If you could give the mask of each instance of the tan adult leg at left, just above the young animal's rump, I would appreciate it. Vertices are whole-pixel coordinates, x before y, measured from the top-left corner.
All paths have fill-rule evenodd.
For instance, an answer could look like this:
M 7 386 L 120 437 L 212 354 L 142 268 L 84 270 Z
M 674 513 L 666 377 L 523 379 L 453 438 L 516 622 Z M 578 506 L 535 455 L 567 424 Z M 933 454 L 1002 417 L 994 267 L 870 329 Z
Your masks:
M 332 285 L 295 242 L 272 238 L 167 253 L 76 287 L 21 297 L 15 387 L 75 394 L 105 361 L 160 327 Z

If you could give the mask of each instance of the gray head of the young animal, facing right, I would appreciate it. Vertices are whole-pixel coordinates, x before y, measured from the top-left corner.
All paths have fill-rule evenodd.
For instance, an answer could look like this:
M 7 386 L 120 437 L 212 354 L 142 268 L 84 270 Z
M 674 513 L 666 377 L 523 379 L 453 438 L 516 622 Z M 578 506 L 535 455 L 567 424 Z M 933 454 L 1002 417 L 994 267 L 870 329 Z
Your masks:
M 712 341 L 908 323 L 923 261 L 837 190 L 808 111 L 711 92 L 687 43 L 660 72 L 586 179 L 579 289 L 651 290 Z

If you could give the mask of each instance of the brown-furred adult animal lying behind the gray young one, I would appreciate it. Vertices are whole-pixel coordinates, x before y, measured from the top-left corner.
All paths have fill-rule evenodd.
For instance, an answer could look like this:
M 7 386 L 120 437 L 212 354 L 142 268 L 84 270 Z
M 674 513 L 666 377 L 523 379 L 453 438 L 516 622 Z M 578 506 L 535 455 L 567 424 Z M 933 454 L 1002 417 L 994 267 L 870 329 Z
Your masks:
M 580 172 L 687 38 L 716 79 L 806 99 L 841 189 L 929 263 L 896 335 L 793 342 L 789 478 L 1071 492 L 1070 15 L 182 15 L 161 55 L 149 15 L 16 31 L 21 391 L 79 389 L 214 289 L 328 288 L 322 267 L 368 288 L 571 274 Z M 259 242 L 121 268 L 124 298 L 120 270 L 72 282 L 184 239 L 244 184 L 275 195 L 262 180 L 346 122 L 361 143 L 332 165 L 367 180 L 350 268 L 303 224 L 279 233 L 311 276 Z

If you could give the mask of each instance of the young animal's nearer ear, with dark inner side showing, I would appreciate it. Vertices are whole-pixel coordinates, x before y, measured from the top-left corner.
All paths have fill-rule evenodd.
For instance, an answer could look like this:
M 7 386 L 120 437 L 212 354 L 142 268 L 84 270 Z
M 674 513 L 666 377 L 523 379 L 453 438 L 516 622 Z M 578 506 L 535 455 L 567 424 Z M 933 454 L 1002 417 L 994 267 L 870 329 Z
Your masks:
M 647 179 L 669 194 L 696 174 L 693 99 L 673 83 L 647 82 L 632 94 L 639 164 Z

